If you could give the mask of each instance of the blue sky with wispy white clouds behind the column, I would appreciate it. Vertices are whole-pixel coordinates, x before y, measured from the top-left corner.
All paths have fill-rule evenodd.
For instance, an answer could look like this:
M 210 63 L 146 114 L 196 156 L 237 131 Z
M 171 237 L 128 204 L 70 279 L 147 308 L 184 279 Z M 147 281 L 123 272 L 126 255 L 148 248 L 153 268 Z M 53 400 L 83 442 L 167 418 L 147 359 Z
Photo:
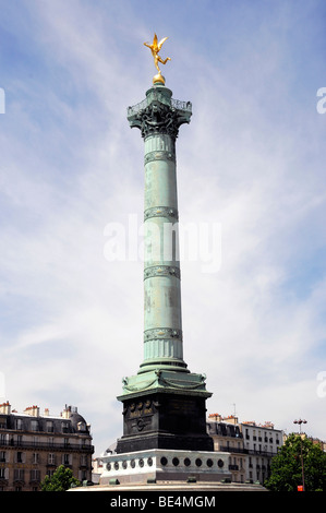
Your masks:
M 221 227 L 221 265 L 182 263 L 184 358 L 208 413 L 326 439 L 326 7 L 306 1 L 0 2 L 3 399 L 122 433 L 142 361 L 143 262 L 108 262 L 105 229 L 142 219 L 143 141 L 126 121 L 162 56 L 180 130 L 180 219 Z M 319 374 L 321 375 L 321 374 Z

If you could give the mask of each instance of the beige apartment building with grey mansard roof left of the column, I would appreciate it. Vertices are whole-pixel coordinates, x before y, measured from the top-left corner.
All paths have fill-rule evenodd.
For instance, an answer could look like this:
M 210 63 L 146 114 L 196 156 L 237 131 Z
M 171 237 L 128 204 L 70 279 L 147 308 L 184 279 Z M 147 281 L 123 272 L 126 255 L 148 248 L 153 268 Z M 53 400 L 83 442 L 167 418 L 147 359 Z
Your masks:
M 19 414 L 9 402 L 0 405 L 0 491 L 38 491 L 60 465 L 90 480 L 93 453 L 89 425 L 76 407 L 53 417 L 37 406 Z

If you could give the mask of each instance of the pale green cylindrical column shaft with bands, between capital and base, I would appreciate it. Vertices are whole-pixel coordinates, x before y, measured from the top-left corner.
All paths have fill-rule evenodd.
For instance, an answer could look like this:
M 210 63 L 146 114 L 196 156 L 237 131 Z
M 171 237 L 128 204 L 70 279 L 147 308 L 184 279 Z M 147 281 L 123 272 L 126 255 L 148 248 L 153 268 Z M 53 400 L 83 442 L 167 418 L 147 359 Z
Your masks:
M 185 369 L 182 349 L 174 140 L 145 139 L 144 362 Z

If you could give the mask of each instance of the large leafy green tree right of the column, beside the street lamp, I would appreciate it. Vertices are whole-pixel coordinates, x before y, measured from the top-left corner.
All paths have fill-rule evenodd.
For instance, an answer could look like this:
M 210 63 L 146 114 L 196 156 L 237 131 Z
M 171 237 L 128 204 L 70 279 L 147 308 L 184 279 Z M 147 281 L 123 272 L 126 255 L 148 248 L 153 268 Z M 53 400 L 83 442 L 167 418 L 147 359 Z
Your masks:
M 297 491 L 302 485 L 302 460 L 305 491 L 326 491 L 326 453 L 312 440 L 294 433 L 271 460 L 265 487 L 271 491 Z

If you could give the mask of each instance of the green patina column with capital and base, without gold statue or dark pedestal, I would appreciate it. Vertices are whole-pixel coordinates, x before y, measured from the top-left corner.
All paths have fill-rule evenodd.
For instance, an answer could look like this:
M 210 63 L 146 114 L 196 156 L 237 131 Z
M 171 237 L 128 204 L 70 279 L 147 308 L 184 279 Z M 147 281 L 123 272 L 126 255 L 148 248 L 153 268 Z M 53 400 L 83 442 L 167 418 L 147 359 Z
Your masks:
M 144 360 L 136 375 L 123 379 L 120 401 L 152 391 L 212 395 L 205 377 L 191 373 L 183 360 L 176 140 L 191 115 L 191 103 L 173 99 L 161 84 L 128 108 L 130 127 L 141 130 L 145 145 Z

